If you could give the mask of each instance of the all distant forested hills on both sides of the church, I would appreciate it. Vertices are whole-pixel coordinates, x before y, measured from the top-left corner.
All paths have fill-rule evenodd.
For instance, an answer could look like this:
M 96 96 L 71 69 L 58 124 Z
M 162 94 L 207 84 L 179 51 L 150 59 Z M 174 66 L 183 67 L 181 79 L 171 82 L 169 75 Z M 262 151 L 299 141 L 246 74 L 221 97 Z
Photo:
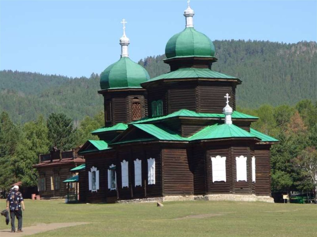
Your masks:
M 240 78 L 237 105 L 294 105 L 308 98 L 316 101 L 317 44 L 282 44 L 268 41 L 214 41 L 218 62 L 212 70 Z M 169 71 L 164 55 L 140 60 L 151 77 Z M 34 120 L 63 112 L 74 121 L 103 109 L 98 74 L 68 78 L 31 72 L 0 71 L 0 112 L 14 122 Z

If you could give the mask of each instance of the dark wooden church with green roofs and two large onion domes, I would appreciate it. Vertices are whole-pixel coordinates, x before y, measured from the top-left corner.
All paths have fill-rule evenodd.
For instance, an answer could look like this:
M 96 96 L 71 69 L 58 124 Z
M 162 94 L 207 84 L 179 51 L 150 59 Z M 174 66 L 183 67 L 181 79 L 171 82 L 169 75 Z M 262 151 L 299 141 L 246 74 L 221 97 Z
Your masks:
M 121 58 L 100 75 L 105 127 L 79 151 L 86 162 L 81 201 L 270 196 L 277 140 L 250 128 L 257 117 L 236 111 L 241 80 L 212 71 L 212 41 L 193 27 L 189 5 L 184 16 L 185 29 L 165 47 L 171 70 L 155 78 L 129 58 L 121 22 Z

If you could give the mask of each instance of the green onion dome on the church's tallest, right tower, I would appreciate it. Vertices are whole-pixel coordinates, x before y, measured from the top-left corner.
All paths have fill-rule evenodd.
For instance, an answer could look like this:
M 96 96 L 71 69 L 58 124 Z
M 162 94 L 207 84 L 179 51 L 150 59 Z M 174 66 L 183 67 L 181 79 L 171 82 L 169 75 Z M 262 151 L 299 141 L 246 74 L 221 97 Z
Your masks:
M 165 47 L 166 58 L 174 57 L 214 57 L 215 46 L 203 33 L 193 27 L 186 27 L 182 32 L 175 34 Z

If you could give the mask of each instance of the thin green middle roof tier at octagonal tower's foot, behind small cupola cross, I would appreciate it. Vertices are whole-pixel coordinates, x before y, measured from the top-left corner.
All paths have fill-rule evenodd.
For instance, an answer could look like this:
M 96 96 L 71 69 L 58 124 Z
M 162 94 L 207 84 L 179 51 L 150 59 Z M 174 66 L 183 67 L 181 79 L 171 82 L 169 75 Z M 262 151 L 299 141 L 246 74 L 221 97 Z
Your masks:
M 144 122 L 154 122 L 154 121 L 160 121 L 168 118 L 173 118 L 173 117 L 200 117 L 200 118 L 224 118 L 224 114 L 208 114 L 208 113 L 196 113 L 195 111 L 191 111 L 188 109 L 180 109 L 174 113 L 171 113 L 169 115 L 165 116 L 160 116 L 160 117 L 154 117 L 154 118 L 148 118 L 145 117 L 143 119 L 140 119 L 135 122 L 130 122 L 129 124 L 139 124 L 139 123 L 144 123 Z M 247 115 L 240 113 L 238 111 L 233 111 L 231 117 L 233 119 L 258 119 L 256 116 L 252 115 Z

